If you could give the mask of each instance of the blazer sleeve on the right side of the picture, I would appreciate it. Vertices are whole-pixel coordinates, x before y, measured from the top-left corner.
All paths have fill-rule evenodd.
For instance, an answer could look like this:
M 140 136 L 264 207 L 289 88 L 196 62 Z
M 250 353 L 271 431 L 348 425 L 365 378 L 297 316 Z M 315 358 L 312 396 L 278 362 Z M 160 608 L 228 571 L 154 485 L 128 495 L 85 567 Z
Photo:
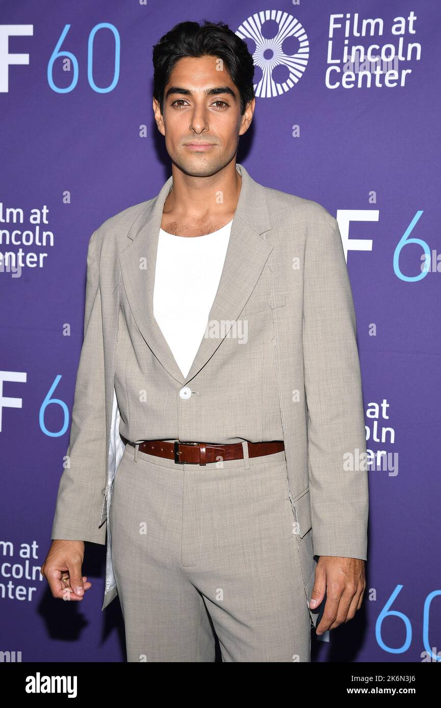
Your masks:
M 320 219 L 323 224 L 323 220 Z M 362 381 L 337 220 L 307 239 L 303 361 L 313 552 L 367 560 L 368 478 Z

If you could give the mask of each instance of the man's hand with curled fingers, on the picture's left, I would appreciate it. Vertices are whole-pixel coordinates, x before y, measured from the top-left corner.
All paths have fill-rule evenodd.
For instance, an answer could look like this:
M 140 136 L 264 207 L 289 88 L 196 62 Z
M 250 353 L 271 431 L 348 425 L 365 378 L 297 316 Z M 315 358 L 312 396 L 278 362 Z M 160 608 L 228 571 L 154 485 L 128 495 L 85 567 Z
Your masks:
M 86 576 L 82 576 L 83 559 L 84 541 L 52 541 L 40 573 L 48 581 L 54 598 L 83 599 L 84 591 L 91 588 Z M 62 578 L 66 578 L 67 582 Z

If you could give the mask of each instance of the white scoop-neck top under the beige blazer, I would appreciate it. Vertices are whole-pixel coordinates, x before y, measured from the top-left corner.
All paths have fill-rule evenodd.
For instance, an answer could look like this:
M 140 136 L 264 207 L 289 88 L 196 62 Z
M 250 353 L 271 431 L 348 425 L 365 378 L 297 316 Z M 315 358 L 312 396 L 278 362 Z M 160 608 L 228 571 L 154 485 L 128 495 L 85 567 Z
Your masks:
M 231 224 L 233 219 L 204 236 L 174 236 L 160 229 L 153 314 L 184 377 L 206 331 Z

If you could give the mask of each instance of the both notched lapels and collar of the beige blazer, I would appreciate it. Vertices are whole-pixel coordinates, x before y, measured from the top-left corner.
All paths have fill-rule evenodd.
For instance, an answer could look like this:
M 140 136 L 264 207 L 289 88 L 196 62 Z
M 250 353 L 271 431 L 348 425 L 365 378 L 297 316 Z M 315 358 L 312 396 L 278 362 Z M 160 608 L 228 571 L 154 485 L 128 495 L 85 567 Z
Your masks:
M 208 316 L 211 322 L 227 322 L 233 326 L 250 297 L 273 246 L 262 239 L 271 229 L 264 188 L 255 182 L 245 168 L 236 164 L 242 176 L 242 185 L 223 271 L 216 297 Z M 141 210 L 130 227 L 128 246 L 119 254 L 123 286 L 140 333 L 145 342 L 169 375 L 183 385 L 190 381 L 211 358 L 230 329 L 220 327 L 221 336 L 204 336 L 188 375 L 182 375 L 172 350 L 162 334 L 153 314 L 153 289 L 157 244 L 159 241 L 162 210 L 172 188 L 169 177 L 157 197 Z M 208 331 L 206 332 L 206 334 Z

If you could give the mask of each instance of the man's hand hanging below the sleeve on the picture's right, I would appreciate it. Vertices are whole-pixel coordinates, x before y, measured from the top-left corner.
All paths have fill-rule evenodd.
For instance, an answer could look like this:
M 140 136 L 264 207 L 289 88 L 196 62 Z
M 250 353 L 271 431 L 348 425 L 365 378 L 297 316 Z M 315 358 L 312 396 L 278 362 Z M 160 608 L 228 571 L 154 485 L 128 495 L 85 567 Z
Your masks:
M 316 634 L 335 629 L 355 617 L 355 612 L 362 606 L 365 588 L 364 561 L 359 558 L 320 556 L 309 603 L 311 610 L 320 605 L 325 592 L 327 597 Z

